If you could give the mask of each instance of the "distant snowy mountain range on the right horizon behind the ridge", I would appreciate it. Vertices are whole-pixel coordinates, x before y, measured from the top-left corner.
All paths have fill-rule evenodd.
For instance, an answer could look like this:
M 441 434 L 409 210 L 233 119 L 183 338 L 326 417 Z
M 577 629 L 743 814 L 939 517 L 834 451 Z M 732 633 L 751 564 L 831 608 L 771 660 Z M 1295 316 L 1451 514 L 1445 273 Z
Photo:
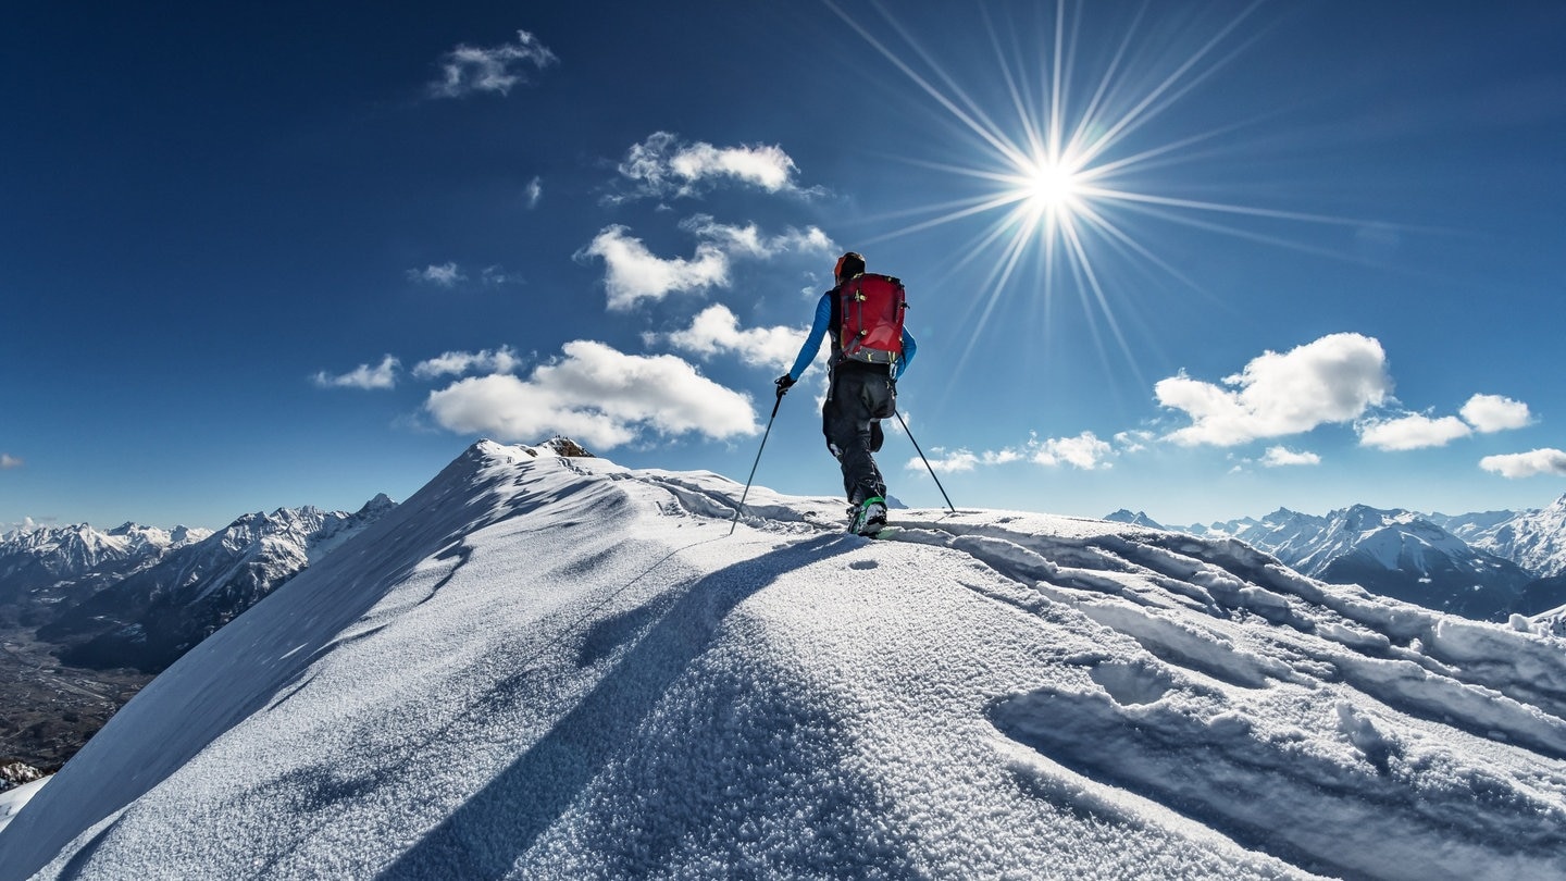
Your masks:
M 1239 539 L 1314 578 L 1466 618 L 1505 621 L 1566 605 L 1566 495 L 1521 513 L 1449 516 L 1355 505 L 1326 516 L 1279 508 L 1261 519 L 1185 527 L 1124 509 L 1106 519 Z

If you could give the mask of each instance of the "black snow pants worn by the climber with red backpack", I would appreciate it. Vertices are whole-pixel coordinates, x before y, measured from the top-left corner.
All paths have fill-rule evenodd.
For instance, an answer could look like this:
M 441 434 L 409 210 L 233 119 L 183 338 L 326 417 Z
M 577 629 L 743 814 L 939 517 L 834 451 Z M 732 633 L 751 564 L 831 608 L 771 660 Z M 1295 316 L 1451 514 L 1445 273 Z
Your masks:
M 821 408 L 821 431 L 827 450 L 843 466 L 843 491 L 849 502 L 886 495 L 875 458 L 880 450 L 880 420 L 897 412 L 897 384 L 885 364 L 844 361 L 832 368 L 827 403 Z

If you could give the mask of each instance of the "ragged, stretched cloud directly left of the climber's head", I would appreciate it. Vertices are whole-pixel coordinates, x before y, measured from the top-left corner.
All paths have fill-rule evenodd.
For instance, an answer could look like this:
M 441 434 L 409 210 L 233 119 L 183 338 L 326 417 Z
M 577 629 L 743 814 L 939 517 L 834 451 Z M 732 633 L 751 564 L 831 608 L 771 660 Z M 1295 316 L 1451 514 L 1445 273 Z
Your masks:
M 598 257 L 604 262 L 611 310 L 631 309 L 642 299 L 659 301 L 670 293 L 727 285 L 734 257 L 770 259 L 791 251 L 832 249 L 832 240 L 816 227 L 764 237 L 755 224 L 727 226 L 706 215 L 680 226 L 697 237 L 691 259 L 658 257 L 630 229 L 619 224 L 604 227 L 576 254 L 578 259 Z

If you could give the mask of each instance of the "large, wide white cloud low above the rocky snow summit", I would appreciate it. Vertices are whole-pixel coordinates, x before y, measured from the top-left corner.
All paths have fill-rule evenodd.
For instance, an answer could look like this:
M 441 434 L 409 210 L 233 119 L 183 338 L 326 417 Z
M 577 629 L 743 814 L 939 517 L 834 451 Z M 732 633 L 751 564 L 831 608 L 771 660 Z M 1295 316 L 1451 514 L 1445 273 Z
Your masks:
M 755 434 L 755 409 L 738 392 L 706 379 L 672 356 L 636 356 L 604 343 L 565 343 L 564 357 L 528 379 L 493 375 L 429 393 L 424 408 L 443 428 L 506 442 L 565 434 L 612 448 L 644 430 L 695 431 L 714 439 Z

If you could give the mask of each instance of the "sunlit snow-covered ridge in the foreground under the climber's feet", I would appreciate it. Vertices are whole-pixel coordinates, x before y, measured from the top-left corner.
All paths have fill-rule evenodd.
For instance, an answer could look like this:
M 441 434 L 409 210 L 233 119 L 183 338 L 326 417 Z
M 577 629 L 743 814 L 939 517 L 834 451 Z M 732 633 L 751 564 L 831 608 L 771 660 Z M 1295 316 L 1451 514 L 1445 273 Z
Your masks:
M 1232 539 L 479 444 L 132 701 L 0 878 L 1566 876 L 1566 644 Z

